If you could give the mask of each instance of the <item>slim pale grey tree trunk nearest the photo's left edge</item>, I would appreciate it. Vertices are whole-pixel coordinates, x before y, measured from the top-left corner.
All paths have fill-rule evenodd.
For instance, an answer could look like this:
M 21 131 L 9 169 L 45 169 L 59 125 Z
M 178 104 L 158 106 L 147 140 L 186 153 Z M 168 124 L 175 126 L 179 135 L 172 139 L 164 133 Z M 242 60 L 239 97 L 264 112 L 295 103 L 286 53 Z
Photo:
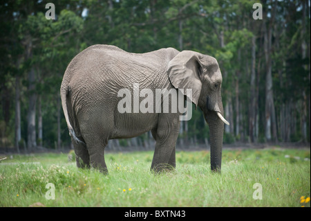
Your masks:
M 19 153 L 19 141 L 21 141 L 21 91 L 19 76 L 15 78 L 15 148 Z

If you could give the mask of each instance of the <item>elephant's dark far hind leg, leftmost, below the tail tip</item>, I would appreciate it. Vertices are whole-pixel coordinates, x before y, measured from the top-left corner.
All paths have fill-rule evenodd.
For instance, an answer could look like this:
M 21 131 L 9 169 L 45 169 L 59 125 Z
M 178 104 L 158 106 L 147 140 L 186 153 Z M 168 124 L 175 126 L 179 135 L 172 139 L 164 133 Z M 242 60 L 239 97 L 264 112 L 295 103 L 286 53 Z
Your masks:
M 80 138 L 83 140 L 82 138 Z M 73 142 L 73 147 L 75 148 L 75 161 L 77 162 L 78 168 L 90 168 L 90 155 L 84 143 L 77 143 L 74 139 L 71 139 Z M 83 141 L 84 142 L 84 141 Z

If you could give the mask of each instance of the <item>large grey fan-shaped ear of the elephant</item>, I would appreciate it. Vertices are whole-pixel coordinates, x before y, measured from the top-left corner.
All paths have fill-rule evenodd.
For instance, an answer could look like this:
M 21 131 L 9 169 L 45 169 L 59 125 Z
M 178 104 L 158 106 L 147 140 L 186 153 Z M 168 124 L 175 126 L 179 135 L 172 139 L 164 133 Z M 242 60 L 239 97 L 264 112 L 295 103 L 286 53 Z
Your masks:
M 186 95 L 186 89 L 192 89 L 190 100 L 198 106 L 198 98 L 202 89 L 200 80 L 200 53 L 194 51 L 182 51 L 178 53 L 168 64 L 167 73 L 171 84 Z

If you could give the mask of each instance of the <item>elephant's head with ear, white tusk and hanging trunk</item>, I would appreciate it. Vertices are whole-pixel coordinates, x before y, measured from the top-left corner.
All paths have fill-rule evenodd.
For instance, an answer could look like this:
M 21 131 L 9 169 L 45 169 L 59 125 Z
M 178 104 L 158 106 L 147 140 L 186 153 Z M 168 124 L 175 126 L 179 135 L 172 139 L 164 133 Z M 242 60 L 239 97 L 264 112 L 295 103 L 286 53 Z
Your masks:
M 191 101 L 202 109 L 209 124 L 211 170 L 220 170 L 223 148 L 223 118 L 221 82 L 223 80 L 215 58 L 194 51 L 178 53 L 168 64 L 167 73 L 176 89 L 192 89 Z M 186 95 L 186 94 L 185 94 Z

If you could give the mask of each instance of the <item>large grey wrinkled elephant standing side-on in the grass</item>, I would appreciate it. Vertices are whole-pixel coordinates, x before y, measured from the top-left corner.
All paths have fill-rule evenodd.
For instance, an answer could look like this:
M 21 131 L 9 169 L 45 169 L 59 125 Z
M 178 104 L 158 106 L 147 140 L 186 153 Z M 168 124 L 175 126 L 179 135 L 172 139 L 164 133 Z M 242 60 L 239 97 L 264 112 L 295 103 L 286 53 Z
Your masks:
M 182 113 L 118 111 L 120 100 L 124 99 L 118 94 L 120 90 L 127 89 L 133 96 L 136 84 L 141 92 L 181 91 L 182 102 L 188 99 L 196 108 L 200 107 L 211 136 L 211 170 L 220 171 L 224 123 L 229 124 L 223 117 L 222 80 L 217 60 L 195 51 L 161 48 L 149 53 L 129 53 L 117 46 L 89 46 L 68 64 L 60 88 L 77 167 L 97 168 L 106 174 L 104 148 L 109 139 L 131 138 L 151 131 L 156 140 L 151 170 L 176 168 Z M 191 89 L 191 96 L 182 89 Z M 143 97 L 136 99 L 141 101 Z

